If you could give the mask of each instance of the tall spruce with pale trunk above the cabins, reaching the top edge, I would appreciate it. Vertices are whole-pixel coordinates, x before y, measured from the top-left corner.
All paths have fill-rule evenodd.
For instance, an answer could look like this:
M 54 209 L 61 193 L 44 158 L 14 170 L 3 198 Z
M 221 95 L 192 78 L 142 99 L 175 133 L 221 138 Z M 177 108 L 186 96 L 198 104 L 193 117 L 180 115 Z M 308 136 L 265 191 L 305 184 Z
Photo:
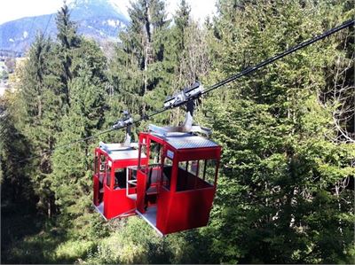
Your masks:
M 144 99 L 162 80 L 164 32 L 169 23 L 160 0 L 131 3 L 130 25 L 120 34 L 122 43 L 111 66 L 115 93 L 131 113 L 146 112 L 153 106 Z

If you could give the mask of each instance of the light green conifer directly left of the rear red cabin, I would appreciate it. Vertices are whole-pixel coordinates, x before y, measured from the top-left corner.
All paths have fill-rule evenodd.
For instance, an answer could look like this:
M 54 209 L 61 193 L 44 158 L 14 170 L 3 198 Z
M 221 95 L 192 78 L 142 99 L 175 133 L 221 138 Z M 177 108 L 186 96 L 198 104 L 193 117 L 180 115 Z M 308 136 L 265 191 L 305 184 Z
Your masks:
M 104 124 L 106 58 L 96 43 L 82 40 L 70 71 L 70 108 L 61 121 L 58 145 L 92 136 Z M 53 156 L 51 189 L 63 214 L 78 216 L 91 205 L 91 164 L 94 145 L 82 142 L 58 149 Z

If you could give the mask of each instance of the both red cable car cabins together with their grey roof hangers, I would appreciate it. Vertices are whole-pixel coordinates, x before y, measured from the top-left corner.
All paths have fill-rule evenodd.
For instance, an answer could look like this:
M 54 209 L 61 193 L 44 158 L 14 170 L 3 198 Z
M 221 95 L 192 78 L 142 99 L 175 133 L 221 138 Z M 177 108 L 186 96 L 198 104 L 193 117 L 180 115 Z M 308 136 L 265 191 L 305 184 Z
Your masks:
M 138 214 L 161 235 L 207 225 L 221 146 L 209 139 L 209 129 L 193 125 L 201 90 L 197 82 L 164 102 L 165 108 L 186 104 L 182 125 L 151 124 L 138 144 L 128 143 L 128 129 L 125 144 L 96 148 L 94 205 L 107 220 Z

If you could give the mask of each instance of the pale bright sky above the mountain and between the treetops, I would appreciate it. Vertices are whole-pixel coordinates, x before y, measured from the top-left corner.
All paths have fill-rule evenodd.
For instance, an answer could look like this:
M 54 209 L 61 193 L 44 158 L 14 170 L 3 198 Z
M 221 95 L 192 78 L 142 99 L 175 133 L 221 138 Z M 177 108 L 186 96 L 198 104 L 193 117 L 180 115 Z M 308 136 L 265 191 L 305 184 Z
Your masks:
M 127 6 L 130 0 L 110 0 L 120 7 L 123 14 L 127 15 Z M 67 4 L 70 4 L 67 0 Z M 167 12 L 174 13 L 179 0 L 166 0 Z M 203 21 L 208 15 L 216 12 L 216 0 L 186 0 L 191 5 L 193 19 Z M 57 12 L 63 0 L 0 0 L 0 24 L 4 22 Z

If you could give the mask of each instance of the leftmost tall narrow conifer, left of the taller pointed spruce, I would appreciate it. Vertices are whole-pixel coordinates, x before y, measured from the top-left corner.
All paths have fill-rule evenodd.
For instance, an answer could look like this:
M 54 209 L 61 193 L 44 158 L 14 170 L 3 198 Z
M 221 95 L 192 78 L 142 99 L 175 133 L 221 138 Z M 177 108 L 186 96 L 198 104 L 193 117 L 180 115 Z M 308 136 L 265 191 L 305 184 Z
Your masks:
M 48 175 L 51 173 L 50 153 L 59 131 L 61 113 L 59 78 L 53 73 L 51 58 L 53 43 L 39 34 L 29 51 L 28 61 L 19 84 L 19 128 L 30 143 L 35 156 L 28 168 L 38 196 L 38 207 L 48 215 L 54 211 L 53 192 Z

